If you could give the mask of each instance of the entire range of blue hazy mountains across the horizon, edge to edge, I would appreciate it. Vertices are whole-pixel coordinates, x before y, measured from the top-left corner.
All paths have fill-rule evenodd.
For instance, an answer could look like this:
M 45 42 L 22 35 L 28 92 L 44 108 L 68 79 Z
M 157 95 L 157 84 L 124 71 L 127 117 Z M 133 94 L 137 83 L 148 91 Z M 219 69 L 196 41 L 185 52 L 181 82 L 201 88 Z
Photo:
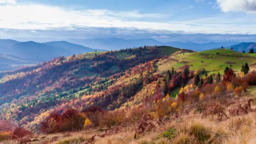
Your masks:
M 134 48 L 144 45 L 167 45 L 193 51 L 205 51 L 208 49 L 220 48 L 221 46 L 224 46 L 225 48 L 233 48 L 234 51 L 238 52 L 248 52 L 251 48 L 256 48 L 256 43 L 246 42 L 163 43 L 150 38 L 130 40 L 122 38 L 69 39 L 67 41 L 51 41 L 46 43 L 0 40 L 0 71 L 13 70 L 21 66 L 49 61 L 59 56 L 70 56 L 73 54 L 93 51 L 119 50 L 121 48 Z

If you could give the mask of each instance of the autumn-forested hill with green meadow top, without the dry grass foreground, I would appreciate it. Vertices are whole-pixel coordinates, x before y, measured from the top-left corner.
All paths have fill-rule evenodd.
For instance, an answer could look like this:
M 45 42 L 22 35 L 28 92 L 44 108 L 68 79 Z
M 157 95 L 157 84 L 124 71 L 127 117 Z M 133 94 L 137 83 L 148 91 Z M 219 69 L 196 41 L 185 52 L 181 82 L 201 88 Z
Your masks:
M 189 110 L 182 114 L 194 114 L 192 111 L 198 109 L 196 104 L 203 103 L 206 98 L 207 101 L 216 100 L 207 93 L 213 93 L 216 85 L 224 88 L 219 91 L 225 96 L 230 94 L 229 98 L 234 98 L 232 92 L 226 93 L 224 82 L 209 82 L 208 85 L 203 74 L 200 80 L 205 88 L 196 88 L 193 70 L 205 68 L 209 75 L 214 75 L 223 73 L 225 67 L 232 67 L 238 73 L 246 62 L 251 70 L 255 69 L 255 61 L 254 53 L 227 49 L 195 52 L 168 46 L 58 57 L 37 66 L 3 73 L 0 79 L 0 119 L 19 122 L 24 128 L 37 132 L 44 130 L 45 126 L 46 133 L 67 131 L 65 128 L 69 125 L 61 125 L 62 130 L 54 127 L 55 118 L 61 119 L 59 124 L 74 122 L 77 115 L 70 116 L 73 112 L 83 113 L 80 115 L 83 125 L 79 130 L 84 128 L 87 118 L 95 124 L 94 128 L 117 125 L 120 117 L 130 126 L 142 118 L 142 121 L 151 120 L 147 119 L 148 113 L 142 116 L 148 111 L 163 123 L 166 116 L 170 115 L 170 120 L 173 120 L 182 110 Z M 241 80 L 240 77 L 237 80 Z M 240 82 L 234 81 L 237 85 Z M 186 86 L 183 88 L 182 85 Z M 129 118 L 126 115 L 131 119 L 126 119 Z M 66 119 L 62 121 L 64 117 Z M 114 117 L 117 119 L 113 120 Z M 49 131 L 48 124 L 50 128 L 53 126 Z

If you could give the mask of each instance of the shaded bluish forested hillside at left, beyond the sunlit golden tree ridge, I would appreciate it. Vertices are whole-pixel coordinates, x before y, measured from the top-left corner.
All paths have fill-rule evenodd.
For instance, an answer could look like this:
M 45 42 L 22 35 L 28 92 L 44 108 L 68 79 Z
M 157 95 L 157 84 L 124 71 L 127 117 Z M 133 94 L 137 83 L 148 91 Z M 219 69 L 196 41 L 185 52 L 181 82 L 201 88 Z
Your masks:
M 130 94 L 127 93 L 127 98 L 123 101 L 125 102 L 128 97 L 136 94 L 136 91 L 140 89 L 141 80 L 145 83 L 149 80 L 146 77 L 141 79 L 139 75 L 155 77 L 152 72 L 155 71 L 157 59 L 177 51 L 181 51 L 181 49 L 162 46 L 96 52 L 96 56 L 95 52 L 83 53 L 75 57 L 55 58 L 36 67 L 24 67 L 15 73 L 3 73 L 3 77 L 0 79 L 0 118 L 7 116 L 4 109 L 11 103 L 16 103 L 15 109 L 20 110 L 11 115 L 11 119 L 21 120 L 24 118 L 20 123 L 27 125 L 28 122 L 35 120 L 35 115 L 38 113 L 59 107 L 59 104 L 69 104 L 76 98 L 80 99 L 85 93 L 97 93 L 97 91 L 107 91 L 107 89 L 120 91 L 119 88 L 125 85 L 129 87 L 127 82 L 118 77 L 121 77 L 122 73 L 131 72 L 134 91 L 130 91 Z M 125 85 L 118 84 L 124 82 Z M 115 86 L 116 84 L 119 86 Z M 131 90 L 128 87 L 122 89 Z M 108 96 L 115 95 L 117 93 L 111 92 Z M 116 99 L 118 98 L 94 99 L 93 101 L 97 101 L 96 103 L 105 109 L 114 109 L 122 104 L 111 106 Z M 27 107 L 28 105 L 32 105 L 32 107 Z

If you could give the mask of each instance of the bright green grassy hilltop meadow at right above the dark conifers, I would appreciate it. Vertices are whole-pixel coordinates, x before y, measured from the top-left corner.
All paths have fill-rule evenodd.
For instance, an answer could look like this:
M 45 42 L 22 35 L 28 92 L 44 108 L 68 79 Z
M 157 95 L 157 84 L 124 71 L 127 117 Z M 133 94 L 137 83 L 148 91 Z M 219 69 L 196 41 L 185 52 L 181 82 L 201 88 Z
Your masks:
M 219 54 L 217 54 L 219 53 Z M 208 74 L 224 73 L 225 67 L 232 67 L 235 72 L 240 72 L 241 66 L 248 63 L 251 69 L 256 65 L 256 53 L 238 53 L 227 49 L 208 50 L 197 53 L 181 53 L 170 56 L 169 59 L 158 63 L 159 72 L 167 69 L 182 69 L 190 67 L 192 70 L 206 69 Z

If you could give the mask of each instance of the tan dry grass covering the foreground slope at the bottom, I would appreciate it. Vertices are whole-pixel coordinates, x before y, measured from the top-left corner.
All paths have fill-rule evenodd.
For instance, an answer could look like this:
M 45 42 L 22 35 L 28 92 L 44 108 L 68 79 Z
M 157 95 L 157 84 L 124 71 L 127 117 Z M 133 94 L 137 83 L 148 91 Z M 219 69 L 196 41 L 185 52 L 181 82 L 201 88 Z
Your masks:
M 98 131 L 98 129 L 70 134 L 41 134 L 33 138 L 38 139 L 37 141 L 32 139 L 32 144 L 52 139 L 51 143 L 53 144 L 83 144 L 95 134 L 98 136 L 93 140 L 94 144 L 254 144 L 256 143 L 256 112 L 252 111 L 240 116 L 231 116 L 228 112 L 229 109 L 237 107 L 239 104 L 245 104 L 249 98 L 255 99 L 255 96 L 243 96 L 230 101 L 231 104 L 224 109 L 229 118 L 222 121 L 212 117 L 203 117 L 203 114 L 191 109 L 180 119 L 155 125 L 155 128 L 142 133 L 136 139 L 134 139 L 136 128 L 131 126 L 104 137 L 100 137 L 100 135 L 105 132 Z M 251 104 L 252 109 L 255 107 L 256 102 Z M 173 131 L 170 132 L 170 130 Z

